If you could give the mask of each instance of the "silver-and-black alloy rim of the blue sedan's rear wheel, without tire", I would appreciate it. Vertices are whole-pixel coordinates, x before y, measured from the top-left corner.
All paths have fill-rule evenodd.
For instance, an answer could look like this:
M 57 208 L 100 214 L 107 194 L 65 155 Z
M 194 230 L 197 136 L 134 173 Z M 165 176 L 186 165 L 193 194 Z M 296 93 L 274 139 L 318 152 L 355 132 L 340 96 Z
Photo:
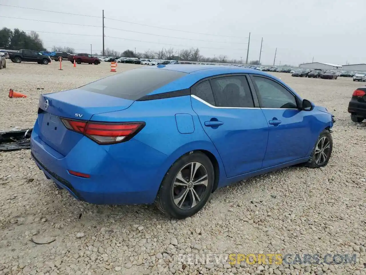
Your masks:
M 175 176 L 172 198 L 180 209 L 195 207 L 207 191 L 208 174 L 205 166 L 199 162 L 190 162 L 183 166 Z

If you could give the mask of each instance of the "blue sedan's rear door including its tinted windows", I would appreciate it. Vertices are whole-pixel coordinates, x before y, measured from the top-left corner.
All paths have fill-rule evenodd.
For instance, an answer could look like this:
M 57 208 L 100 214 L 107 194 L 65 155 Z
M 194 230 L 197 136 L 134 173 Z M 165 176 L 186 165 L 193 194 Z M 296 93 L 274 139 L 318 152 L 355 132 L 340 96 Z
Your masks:
M 191 88 L 192 108 L 223 161 L 227 177 L 262 168 L 268 124 L 246 75 L 210 78 Z

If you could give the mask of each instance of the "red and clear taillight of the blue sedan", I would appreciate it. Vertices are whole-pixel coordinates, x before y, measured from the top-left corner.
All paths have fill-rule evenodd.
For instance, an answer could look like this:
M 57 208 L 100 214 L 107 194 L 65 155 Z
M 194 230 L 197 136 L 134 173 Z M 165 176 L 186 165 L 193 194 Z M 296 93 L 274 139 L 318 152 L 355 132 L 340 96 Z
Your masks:
M 145 126 L 145 122 L 97 122 L 61 118 L 67 129 L 81 133 L 98 144 L 125 142 Z

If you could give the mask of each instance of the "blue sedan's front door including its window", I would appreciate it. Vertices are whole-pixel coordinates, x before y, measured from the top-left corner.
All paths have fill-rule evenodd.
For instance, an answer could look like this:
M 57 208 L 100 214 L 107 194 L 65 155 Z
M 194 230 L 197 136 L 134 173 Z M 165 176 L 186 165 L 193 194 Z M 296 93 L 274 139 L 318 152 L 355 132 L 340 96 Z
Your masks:
M 311 118 L 297 106 L 300 99 L 273 78 L 251 75 L 259 105 L 269 126 L 263 168 L 306 157 L 313 143 Z M 309 112 L 308 112 L 309 113 Z

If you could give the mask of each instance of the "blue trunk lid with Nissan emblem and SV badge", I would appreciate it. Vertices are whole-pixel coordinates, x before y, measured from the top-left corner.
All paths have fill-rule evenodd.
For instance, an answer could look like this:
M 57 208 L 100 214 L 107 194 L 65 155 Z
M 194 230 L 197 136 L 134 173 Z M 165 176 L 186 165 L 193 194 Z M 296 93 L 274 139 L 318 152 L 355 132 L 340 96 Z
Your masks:
M 38 106 L 40 138 L 65 156 L 83 135 L 69 131 L 60 117 L 90 120 L 94 114 L 127 109 L 133 102 L 83 89 L 43 94 Z

